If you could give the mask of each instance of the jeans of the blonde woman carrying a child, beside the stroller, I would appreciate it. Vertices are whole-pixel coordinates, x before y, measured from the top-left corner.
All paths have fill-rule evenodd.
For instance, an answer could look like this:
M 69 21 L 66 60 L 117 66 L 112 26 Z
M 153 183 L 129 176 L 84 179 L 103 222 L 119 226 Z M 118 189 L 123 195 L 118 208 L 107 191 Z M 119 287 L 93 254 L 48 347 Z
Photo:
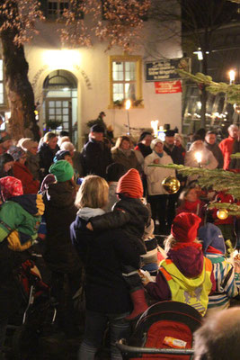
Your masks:
M 129 338 L 130 325 L 125 320 L 128 314 L 104 314 L 102 312 L 86 311 L 84 341 L 78 352 L 78 360 L 94 359 L 97 349 L 101 347 L 102 336 L 108 323 L 111 338 L 111 360 L 122 360 L 115 343 L 120 338 Z

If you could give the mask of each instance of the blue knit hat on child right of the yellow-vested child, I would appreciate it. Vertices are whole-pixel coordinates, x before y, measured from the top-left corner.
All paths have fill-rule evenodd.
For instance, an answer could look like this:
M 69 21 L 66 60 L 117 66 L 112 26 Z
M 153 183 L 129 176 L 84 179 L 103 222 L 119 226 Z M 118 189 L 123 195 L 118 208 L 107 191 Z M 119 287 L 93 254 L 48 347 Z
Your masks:
M 207 222 L 206 225 L 200 227 L 198 236 L 202 240 L 202 250 L 204 253 L 208 252 L 209 246 L 216 248 L 222 254 L 226 253 L 223 234 L 218 226 Z

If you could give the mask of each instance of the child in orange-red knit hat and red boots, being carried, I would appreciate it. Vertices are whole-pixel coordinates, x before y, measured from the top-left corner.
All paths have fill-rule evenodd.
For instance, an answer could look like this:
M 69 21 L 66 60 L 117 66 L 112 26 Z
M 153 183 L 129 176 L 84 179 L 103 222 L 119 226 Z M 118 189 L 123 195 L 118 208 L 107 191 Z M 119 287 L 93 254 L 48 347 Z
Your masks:
M 138 170 L 131 168 L 120 177 L 117 191 L 120 201 L 116 202 L 113 211 L 90 219 L 88 229 L 123 229 L 136 248 L 139 255 L 146 254 L 144 230 L 150 221 L 150 212 L 142 202 L 143 185 Z M 90 226 L 89 226 L 90 225 Z M 145 291 L 138 275 L 138 269 L 132 266 L 122 266 L 122 275 L 129 285 L 131 300 L 134 305 L 132 313 L 126 318 L 134 320 L 147 310 Z

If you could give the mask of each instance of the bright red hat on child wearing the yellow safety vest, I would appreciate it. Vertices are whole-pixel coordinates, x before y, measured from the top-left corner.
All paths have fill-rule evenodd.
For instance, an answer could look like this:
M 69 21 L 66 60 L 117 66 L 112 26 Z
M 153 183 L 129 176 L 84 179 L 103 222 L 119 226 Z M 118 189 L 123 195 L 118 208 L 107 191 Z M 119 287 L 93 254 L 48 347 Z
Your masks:
M 171 229 L 173 238 L 180 242 L 192 242 L 197 238 L 200 217 L 192 212 L 181 212 L 174 220 Z

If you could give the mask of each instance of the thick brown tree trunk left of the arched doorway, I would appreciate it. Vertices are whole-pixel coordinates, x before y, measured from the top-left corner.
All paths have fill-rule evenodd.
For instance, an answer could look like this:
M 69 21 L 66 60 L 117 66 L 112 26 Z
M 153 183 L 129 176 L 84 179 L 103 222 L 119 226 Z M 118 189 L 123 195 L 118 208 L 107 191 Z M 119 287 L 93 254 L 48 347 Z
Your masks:
M 4 59 L 4 81 L 11 111 L 10 132 L 13 139 L 26 137 L 31 130 L 34 139 L 39 139 L 35 120 L 34 94 L 28 79 L 29 65 L 22 46 L 14 44 L 16 31 L 6 30 L 1 34 Z M 34 131 L 34 133 L 33 133 Z M 31 134 L 29 131 L 28 137 Z

